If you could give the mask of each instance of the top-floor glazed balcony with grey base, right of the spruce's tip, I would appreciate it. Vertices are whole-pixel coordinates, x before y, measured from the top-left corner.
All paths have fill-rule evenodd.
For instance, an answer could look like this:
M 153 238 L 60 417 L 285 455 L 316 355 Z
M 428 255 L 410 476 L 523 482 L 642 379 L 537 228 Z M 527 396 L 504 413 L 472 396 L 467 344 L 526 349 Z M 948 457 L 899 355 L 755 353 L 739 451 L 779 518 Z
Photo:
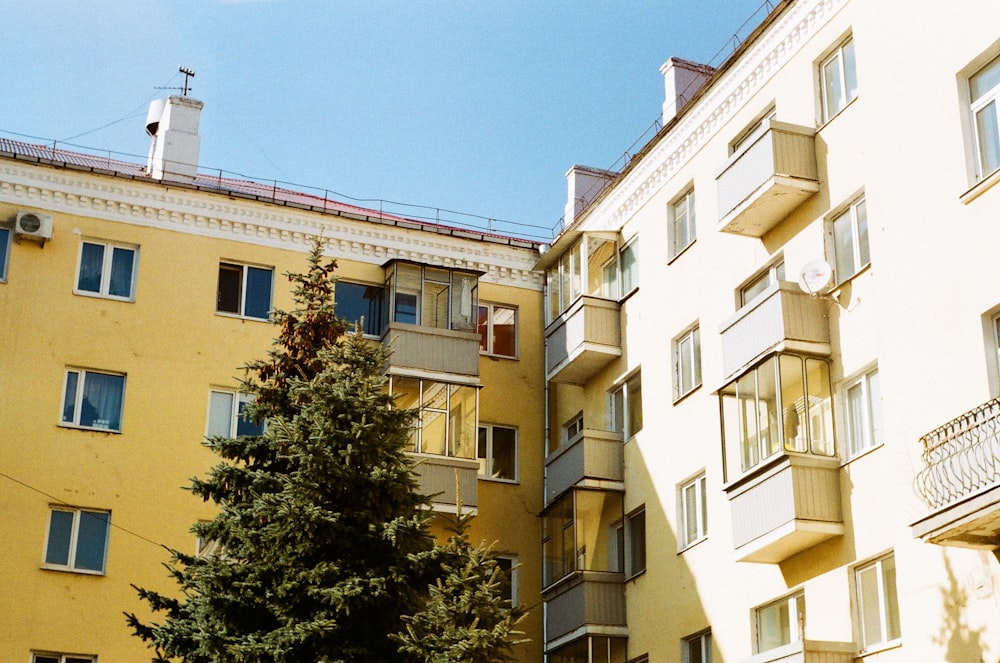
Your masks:
M 479 375 L 479 273 L 392 261 L 382 343 L 390 368 Z

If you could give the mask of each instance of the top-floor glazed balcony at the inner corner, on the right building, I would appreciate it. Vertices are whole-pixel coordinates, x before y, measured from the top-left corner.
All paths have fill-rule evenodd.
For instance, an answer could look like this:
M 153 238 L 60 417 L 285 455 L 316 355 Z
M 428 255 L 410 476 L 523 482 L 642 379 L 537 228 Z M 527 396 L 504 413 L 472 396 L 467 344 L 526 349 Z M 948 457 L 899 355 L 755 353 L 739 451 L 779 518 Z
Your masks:
M 582 384 L 621 356 L 618 300 L 636 285 L 638 247 L 582 233 L 546 268 L 546 378 Z

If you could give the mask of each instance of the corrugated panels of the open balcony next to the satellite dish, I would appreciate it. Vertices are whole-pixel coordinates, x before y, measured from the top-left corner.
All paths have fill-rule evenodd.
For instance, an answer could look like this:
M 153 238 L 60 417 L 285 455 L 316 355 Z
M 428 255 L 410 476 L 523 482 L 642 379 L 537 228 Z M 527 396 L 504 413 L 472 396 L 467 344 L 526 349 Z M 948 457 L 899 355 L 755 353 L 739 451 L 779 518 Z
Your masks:
M 720 326 L 723 373 L 730 378 L 772 350 L 830 356 L 828 310 L 796 283 L 772 285 Z

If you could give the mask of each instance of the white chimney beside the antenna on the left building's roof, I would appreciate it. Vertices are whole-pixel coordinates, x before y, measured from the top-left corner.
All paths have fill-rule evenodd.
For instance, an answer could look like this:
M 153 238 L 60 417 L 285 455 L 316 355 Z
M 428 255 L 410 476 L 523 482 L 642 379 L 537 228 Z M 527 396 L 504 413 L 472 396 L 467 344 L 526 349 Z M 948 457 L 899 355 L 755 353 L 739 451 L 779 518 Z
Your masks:
M 152 136 L 146 171 L 153 179 L 194 182 L 198 173 L 198 120 L 204 104 L 172 95 L 154 99 L 146 114 L 146 133 Z

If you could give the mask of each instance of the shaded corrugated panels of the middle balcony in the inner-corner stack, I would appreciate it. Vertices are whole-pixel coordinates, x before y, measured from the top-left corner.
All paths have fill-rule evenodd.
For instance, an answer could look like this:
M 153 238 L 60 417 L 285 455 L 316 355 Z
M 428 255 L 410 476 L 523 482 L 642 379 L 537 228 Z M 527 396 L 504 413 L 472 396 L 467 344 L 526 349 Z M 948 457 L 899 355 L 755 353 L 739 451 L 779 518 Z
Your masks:
M 580 483 L 625 480 L 625 448 L 621 433 L 584 429 L 569 445 L 545 460 L 545 504 Z

